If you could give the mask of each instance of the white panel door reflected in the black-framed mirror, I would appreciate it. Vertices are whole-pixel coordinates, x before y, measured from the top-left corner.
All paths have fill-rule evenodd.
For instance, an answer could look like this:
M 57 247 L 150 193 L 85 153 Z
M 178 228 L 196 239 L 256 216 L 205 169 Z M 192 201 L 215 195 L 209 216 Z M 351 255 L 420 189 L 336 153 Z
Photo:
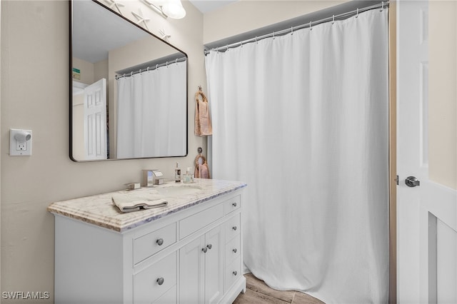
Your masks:
M 106 79 L 84 88 L 84 146 L 87 160 L 106 159 Z

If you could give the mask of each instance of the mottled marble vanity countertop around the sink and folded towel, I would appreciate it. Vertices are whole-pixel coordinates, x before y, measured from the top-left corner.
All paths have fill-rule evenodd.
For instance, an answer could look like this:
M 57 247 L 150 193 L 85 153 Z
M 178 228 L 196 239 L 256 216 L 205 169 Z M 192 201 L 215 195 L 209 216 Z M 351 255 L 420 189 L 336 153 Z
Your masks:
M 160 186 L 144 187 L 133 191 L 139 193 L 156 193 L 157 188 L 171 185 L 176 185 L 176 183 L 164 183 Z M 246 187 L 246 183 L 240 181 L 219 181 L 201 178 L 196 178 L 194 183 L 181 183 L 180 185 L 198 186 L 202 191 L 183 196 L 166 197 L 166 201 L 169 202 L 167 206 L 129 213 L 119 211 L 119 208 L 114 206 L 111 197 L 115 193 L 131 193 L 132 191 L 116 191 L 96 196 L 75 198 L 68 201 L 59 201 L 51 203 L 47 210 L 61 216 L 67 216 L 118 232 L 124 232 L 141 226 L 144 223 L 163 218 L 170 213 L 176 213 L 185 208 L 204 203 L 218 196 Z

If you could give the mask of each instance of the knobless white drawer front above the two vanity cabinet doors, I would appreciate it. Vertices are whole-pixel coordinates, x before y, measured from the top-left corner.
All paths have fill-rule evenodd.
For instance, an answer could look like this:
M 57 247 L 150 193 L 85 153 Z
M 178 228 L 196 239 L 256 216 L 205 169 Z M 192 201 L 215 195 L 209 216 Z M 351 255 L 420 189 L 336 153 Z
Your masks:
M 189 218 L 184 218 L 179 221 L 179 239 L 186 238 L 186 236 L 204 228 L 204 226 L 213 223 L 222 216 L 224 216 L 224 206 L 223 203 L 220 203 L 193 216 L 189 216 Z

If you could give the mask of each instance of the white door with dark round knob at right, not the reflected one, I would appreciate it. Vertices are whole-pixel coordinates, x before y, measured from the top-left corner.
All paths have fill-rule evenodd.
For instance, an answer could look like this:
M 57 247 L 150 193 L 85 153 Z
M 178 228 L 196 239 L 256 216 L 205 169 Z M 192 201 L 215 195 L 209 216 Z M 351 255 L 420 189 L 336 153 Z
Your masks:
M 397 26 L 397 300 L 457 303 L 457 195 L 428 179 L 428 1 L 398 1 Z

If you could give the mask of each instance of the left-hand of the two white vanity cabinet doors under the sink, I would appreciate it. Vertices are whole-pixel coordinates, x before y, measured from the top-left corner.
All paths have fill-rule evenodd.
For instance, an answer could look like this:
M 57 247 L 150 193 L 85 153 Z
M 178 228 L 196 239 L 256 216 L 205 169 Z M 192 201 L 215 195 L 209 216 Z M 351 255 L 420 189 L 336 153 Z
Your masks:
M 203 303 L 204 248 L 201 236 L 179 250 L 179 302 Z

